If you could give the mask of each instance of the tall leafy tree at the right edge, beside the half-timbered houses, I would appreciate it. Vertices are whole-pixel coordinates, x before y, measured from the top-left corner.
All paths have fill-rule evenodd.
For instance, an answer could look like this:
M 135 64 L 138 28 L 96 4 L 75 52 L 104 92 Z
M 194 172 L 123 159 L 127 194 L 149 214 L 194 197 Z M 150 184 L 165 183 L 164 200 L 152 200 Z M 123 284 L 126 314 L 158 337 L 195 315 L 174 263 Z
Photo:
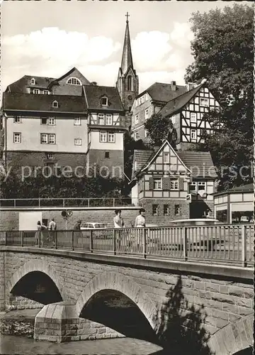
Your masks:
M 205 143 L 199 147 L 211 152 L 219 169 L 219 190 L 252 180 L 251 173 L 244 177 L 240 169 L 250 165 L 253 154 L 253 17 L 251 6 L 234 4 L 223 10 L 193 13 L 190 20 L 194 62 L 186 69 L 185 80 L 200 82 L 206 78 L 222 108 L 207 115 L 215 133 L 204 133 Z M 235 176 L 229 174 L 234 166 L 238 172 Z

